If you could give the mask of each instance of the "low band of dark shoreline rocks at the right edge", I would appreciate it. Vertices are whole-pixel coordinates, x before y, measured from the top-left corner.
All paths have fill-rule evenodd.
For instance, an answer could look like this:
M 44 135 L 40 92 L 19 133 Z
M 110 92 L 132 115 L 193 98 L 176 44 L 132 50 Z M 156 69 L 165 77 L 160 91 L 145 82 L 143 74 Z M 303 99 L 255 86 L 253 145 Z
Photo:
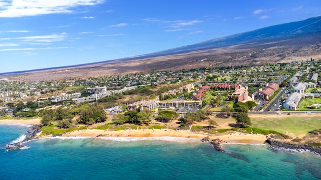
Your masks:
M 302 144 L 302 143 L 290 143 L 290 142 L 275 140 L 272 138 L 266 139 L 265 142 L 269 143 L 270 147 L 272 148 L 286 149 L 286 150 L 297 151 L 297 152 L 310 151 L 317 155 L 321 155 L 321 146 L 313 146 L 313 145 Z

